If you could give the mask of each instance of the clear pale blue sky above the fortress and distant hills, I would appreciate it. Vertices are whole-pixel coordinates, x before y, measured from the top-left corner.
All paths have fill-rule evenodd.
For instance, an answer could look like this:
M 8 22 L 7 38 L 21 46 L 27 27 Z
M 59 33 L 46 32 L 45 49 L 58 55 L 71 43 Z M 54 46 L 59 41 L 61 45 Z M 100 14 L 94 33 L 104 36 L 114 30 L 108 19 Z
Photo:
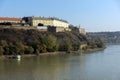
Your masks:
M 119 0 L 0 0 L 0 17 L 58 17 L 87 32 L 120 31 Z

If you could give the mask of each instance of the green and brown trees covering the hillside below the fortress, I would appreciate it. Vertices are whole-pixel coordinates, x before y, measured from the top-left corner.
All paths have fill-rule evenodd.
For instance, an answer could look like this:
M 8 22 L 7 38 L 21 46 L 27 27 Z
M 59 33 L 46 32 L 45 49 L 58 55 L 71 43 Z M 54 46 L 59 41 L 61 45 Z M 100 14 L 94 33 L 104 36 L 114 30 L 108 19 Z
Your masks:
M 55 51 L 77 51 L 81 44 L 89 48 L 102 46 L 76 32 L 40 32 L 39 30 L 0 29 L 0 55 L 41 54 Z M 90 47 L 92 46 L 92 47 Z

